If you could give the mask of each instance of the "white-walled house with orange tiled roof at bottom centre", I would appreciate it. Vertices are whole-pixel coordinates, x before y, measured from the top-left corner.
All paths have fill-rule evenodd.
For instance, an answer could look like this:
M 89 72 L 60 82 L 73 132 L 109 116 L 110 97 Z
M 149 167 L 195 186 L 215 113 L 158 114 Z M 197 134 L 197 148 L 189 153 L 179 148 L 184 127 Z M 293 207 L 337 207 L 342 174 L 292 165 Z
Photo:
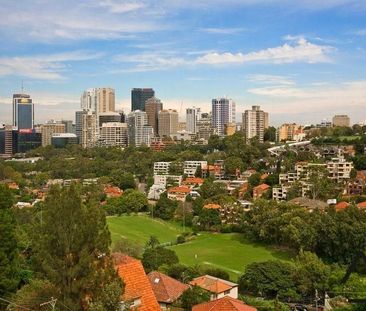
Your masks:
M 211 293 L 210 300 L 216 300 L 229 296 L 231 298 L 238 298 L 238 284 L 215 278 L 211 275 L 203 275 L 193 279 L 190 285 L 196 285 Z

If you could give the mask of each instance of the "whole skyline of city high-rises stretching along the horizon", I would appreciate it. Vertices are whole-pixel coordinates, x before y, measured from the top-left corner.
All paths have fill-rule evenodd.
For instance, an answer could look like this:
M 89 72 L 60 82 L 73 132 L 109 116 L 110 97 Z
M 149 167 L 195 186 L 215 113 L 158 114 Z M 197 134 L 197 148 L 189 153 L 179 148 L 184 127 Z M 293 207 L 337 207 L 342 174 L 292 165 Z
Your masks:
M 260 106 L 252 106 L 242 113 L 240 123 L 236 122 L 236 104 L 226 97 L 214 98 L 211 111 L 203 112 L 200 107 L 185 110 L 185 122 L 180 122 L 175 109 L 164 107 L 152 88 L 131 90 L 131 112 L 127 115 L 116 110 L 115 91 L 110 87 L 96 87 L 85 90 L 80 97 L 80 110 L 72 120 L 50 120 L 34 124 L 34 103 L 30 95 L 13 95 L 13 123 L 0 128 L 0 155 L 11 156 L 28 150 L 53 145 L 65 147 L 80 144 L 92 147 L 140 147 L 143 145 L 163 149 L 177 141 L 191 141 L 207 144 L 212 135 L 219 137 L 233 135 L 239 129 L 249 142 L 251 139 L 264 141 L 268 128 L 268 113 Z M 332 122 L 322 121 L 317 127 L 349 127 L 347 115 L 335 115 Z M 276 129 L 276 140 L 302 141 L 304 127 L 295 123 L 284 123 Z

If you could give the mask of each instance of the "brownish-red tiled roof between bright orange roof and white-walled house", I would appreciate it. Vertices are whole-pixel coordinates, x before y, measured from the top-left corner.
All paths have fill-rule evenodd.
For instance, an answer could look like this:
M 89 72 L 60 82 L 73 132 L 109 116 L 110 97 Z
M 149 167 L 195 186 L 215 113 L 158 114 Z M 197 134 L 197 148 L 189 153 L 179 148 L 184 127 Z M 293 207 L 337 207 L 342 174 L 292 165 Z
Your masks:
M 187 284 L 157 271 L 150 272 L 147 277 L 159 302 L 172 303 L 189 287 Z

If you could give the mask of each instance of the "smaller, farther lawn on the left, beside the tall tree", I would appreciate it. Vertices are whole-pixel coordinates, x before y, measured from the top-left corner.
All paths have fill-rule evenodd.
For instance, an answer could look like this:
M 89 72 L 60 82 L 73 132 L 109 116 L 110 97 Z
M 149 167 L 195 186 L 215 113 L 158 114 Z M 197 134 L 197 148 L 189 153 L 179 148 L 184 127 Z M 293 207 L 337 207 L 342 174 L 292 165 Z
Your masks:
M 112 244 L 124 237 L 140 245 L 145 245 L 151 235 L 155 235 L 160 243 L 173 242 L 182 232 L 182 228 L 177 224 L 156 218 L 151 219 L 148 216 L 108 217 L 107 222 Z

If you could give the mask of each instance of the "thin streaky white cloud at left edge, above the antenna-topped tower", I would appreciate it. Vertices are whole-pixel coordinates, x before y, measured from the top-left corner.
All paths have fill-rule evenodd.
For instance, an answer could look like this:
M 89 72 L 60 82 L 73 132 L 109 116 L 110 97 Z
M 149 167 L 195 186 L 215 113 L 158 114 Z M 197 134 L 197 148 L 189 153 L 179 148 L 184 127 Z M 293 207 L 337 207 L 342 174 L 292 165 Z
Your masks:
M 17 75 L 40 80 L 64 79 L 66 63 L 87 61 L 101 57 L 100 53 L 74 51 L 51 55 L 1 57 L 0 76 Z

